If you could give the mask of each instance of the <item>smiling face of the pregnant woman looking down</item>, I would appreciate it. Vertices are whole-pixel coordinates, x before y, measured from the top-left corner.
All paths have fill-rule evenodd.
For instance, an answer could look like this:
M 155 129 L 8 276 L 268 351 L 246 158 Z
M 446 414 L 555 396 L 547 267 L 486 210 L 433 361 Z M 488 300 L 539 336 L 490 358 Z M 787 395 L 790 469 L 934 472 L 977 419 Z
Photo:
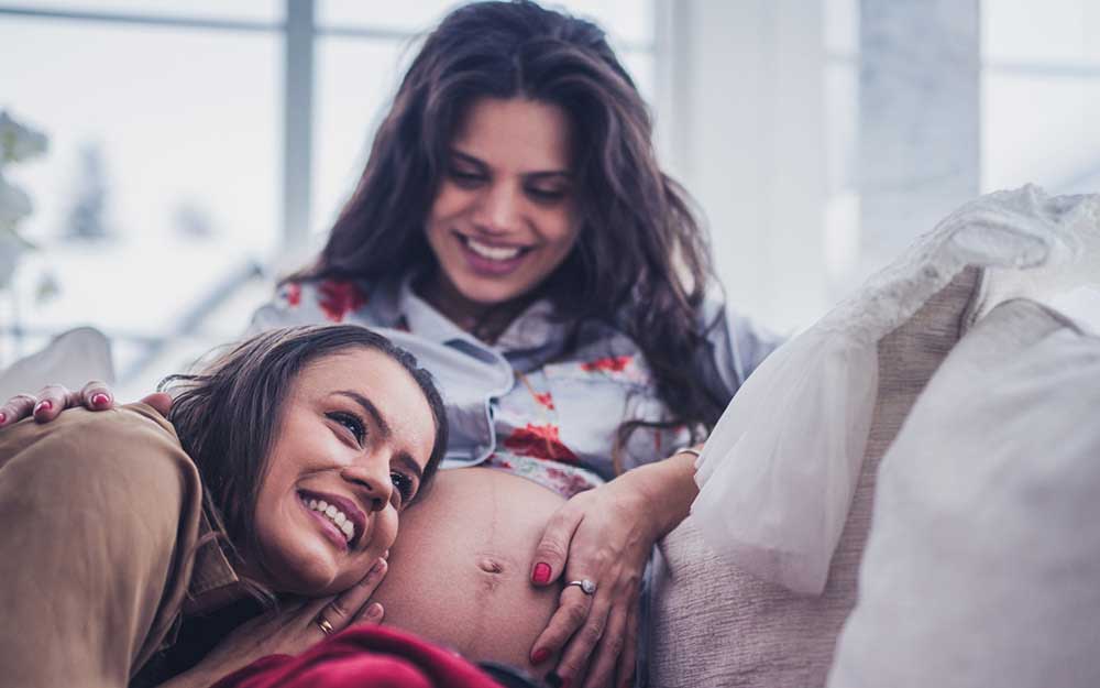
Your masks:
M 558 106 L 483 98 L 470 107 L 427 227 L 437 305 L 459 310 L 448 316 L 522 296 L 569 255 L 578 236 L 570 136 Z

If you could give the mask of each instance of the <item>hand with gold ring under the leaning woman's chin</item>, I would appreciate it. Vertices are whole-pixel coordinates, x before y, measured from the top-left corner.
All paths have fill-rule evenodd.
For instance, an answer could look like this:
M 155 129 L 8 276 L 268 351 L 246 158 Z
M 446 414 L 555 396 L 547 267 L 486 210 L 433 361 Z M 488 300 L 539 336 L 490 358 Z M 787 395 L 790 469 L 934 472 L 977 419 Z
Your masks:
M 169 686 L 209 686 L 255 659 L 297 655 L 306 648 L 360 623 L 377 624 L 385 613 L 371 596 L 386 575 L 378 559 L 358 583 L 336 597 L 280 602 L 278 609 L 237 627 L 206 658 Z

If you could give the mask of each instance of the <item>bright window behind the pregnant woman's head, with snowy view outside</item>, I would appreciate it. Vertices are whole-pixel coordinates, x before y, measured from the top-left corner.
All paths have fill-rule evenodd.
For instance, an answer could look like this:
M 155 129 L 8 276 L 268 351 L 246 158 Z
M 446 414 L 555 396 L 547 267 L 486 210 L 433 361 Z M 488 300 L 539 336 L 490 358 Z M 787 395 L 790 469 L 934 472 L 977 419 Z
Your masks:
M 0 109 L 50 136 L 4 171 L 40 250 L 0 291 L 0 369 L 92 325 L 134 398 L 239 336 L 275 271 L 308 260 L 279 261 L 295 232 L 327 230 L 417 37 L 453 4 L 0 3 Z M 614 28 L 652 97 L 652 2 L 563 4 Z

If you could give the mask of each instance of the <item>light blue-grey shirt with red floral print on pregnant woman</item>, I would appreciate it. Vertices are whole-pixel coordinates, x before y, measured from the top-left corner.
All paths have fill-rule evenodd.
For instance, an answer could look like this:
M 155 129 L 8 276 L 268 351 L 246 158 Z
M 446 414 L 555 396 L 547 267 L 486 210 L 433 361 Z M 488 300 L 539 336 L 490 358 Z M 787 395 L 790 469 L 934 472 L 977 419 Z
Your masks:
M 564 352 L 564 326 L 550 318 L 548 302 L 538 302 L 486 345 L 420 298 L 411 282 L 284 284 L 255 313 L 250 331 L 326 321 L 377 330 L 436 378 L 450 423 L 443 468 L 507 470 L 566 498 L 614 478 L 612 447 L 624 421 L 666 415 L 637 345 L 617 329 L 586 325 Z M 779 340 L 723 307 L 707 310 L 714 326 L 700 363 L 728 400 Z M 663 459 L 689 440 L 685 427 L 639 429 L 624 447 L 622 468 Z

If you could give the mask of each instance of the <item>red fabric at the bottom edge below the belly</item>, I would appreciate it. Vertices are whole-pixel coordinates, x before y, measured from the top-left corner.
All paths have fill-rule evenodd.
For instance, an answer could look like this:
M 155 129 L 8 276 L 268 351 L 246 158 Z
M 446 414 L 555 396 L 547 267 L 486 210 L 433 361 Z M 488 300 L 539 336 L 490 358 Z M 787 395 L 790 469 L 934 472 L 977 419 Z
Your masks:
M 212 688 L 501 688 L 459 655 L 409 633 L 354 626 L 297 657 L 272 655 Z

